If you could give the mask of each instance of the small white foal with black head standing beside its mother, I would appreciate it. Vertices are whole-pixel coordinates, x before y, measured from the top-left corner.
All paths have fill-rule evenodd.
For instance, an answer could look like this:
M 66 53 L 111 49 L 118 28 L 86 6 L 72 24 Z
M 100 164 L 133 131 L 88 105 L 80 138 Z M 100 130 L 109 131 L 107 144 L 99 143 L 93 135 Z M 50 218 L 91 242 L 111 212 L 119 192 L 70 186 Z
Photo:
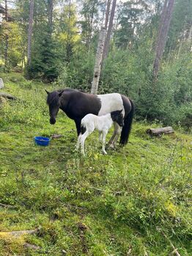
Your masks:
M 100 117 L 95 114 L 86 114 L 86 116 L 81 120 L 81 134 L 78 136 L 76 149 L 78 150 L 81 144 L 81 153 L 85 156 L 84 142 L 87 136 L 97 129 L 100 134 L 100 141 L 102 141 L 103 153 L 107 154 L 105 149 L 106 135 L 113 122 L 117 123 L 121 127 L 124 125 L 122 110 L 112 111 L 111 113 Z

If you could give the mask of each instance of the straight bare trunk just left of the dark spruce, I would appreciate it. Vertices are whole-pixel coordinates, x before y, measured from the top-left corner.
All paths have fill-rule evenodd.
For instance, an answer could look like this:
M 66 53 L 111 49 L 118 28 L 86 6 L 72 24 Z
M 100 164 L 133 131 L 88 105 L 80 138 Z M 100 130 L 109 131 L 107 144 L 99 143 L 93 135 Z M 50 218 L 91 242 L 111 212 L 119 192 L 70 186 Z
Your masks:
M 28 46 L 27 46 L 27 64 L 28 65 L 31 65 L 31 62 L 32 62 L 33 13 L 34 13 L 34 0 L 30 0 Z

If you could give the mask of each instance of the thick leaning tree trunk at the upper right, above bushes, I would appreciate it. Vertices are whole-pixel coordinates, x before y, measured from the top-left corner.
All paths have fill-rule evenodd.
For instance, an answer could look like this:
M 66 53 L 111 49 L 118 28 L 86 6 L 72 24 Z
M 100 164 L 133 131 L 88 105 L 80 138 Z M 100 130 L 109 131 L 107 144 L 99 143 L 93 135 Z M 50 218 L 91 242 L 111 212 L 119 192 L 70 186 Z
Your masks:
M 163 51 L 166 45 L 166 38 L 169 32 L 169 24 L 171 21 L 171 15 L 173 12 L 174 0 L 166 0 L 163 6 L 163 12 L 160 18 L 160 26 L 158 32 L 158 40 L 155 47 L 155 62 L 153 64 L 153 78 L 154 82 L 158 77 L 158 71 L 160 68 L 160 60 L 163 56 Z

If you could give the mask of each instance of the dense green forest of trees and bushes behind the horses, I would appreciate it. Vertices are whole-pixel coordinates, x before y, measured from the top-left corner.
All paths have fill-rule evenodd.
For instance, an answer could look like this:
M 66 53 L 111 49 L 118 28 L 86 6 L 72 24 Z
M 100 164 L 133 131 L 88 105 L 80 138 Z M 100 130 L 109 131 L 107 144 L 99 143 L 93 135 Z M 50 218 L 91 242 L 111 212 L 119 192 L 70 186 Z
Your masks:
M 154 79 L 165 2 L 1 0 L 0 69 L 24 70 L 26 78 L 54 82 L 56 88 L 90 92 L 100 28 L 106 23 L 107 6 L 109 20 L 114 6 L 98 92 L 128 95 L 136 105 L 137 120 L 190 129 L 192 3 L 172 1 L 169 31 Z

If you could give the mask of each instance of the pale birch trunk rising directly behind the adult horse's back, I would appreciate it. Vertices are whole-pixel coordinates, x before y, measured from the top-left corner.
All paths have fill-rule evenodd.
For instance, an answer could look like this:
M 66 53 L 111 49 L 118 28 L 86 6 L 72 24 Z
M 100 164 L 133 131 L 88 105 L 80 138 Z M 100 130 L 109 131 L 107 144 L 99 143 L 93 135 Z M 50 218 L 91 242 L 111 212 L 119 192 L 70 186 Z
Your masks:
M 95 57 L 95 67 L 94 67 L 94 74 L 93 74 L 93 80 L 92 80 L 92 94 L 97 94 L 98 84 L 100 80 L 100 66 L 101 66 L 101 60 L 102 60 L 102 54 L 103 54 L 103 45 L 105 42 L 106 37 L 106 29 L 102 28 L 100 30 L 100 37 L 97 45 L 97 54 Z

